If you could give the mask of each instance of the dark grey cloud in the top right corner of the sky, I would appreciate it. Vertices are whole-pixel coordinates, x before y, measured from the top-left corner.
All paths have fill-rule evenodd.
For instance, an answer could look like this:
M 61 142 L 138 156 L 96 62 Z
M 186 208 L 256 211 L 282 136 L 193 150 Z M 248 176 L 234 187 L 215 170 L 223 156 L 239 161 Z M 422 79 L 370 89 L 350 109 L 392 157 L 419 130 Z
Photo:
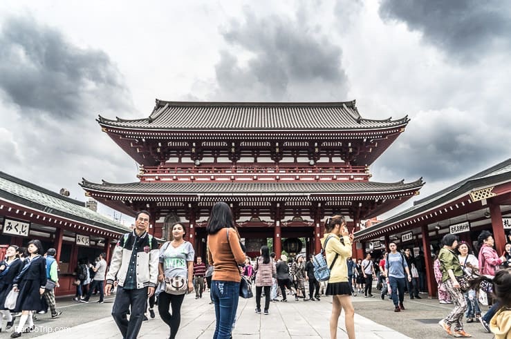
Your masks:
M 461 61 L 475 61 L 498 46 L 510 46 L 511 7 L 490 0 L 382 0 L 382 19 L 404 21 Z

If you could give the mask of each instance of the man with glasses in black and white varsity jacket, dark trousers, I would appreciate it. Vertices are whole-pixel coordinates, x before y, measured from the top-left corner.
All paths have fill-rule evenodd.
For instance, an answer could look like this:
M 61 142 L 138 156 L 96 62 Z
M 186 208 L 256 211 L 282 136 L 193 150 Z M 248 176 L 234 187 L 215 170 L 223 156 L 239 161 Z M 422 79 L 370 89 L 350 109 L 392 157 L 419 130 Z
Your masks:
M 113 281 L 118 281 L 112 316 L 125 339 L 137 338 L 147 297 L 154 294 L 158 280 L 158 242 L 147 229 L 149 212 L 140 211 L 135 217 L 133 232 L 124 234 L 117 242 L 106 275 L 106 296 L 111 292 Z

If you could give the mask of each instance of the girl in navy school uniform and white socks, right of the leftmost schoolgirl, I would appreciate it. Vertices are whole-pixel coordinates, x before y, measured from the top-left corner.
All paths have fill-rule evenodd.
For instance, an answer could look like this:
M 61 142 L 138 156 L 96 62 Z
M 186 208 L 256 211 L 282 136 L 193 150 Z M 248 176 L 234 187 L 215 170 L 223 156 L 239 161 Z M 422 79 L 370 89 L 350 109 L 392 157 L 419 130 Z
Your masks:
M 10 335 L 10 338 L 21 336 L 21 331 L 23 331 L 27 320 L 28 330 L 25 332 L 33 331 L 32 311 L 43 310 L 41 296 L 46 286 L 46 258 L 42 256 L 44 253 L 43 245 L 39 240 L 32 240 L 28 242 L 27 251 L 28 258 L 26 258 L 21 273 L 17 275 L 12 285 L 12 289 L 19 291 L 14 311 L 21 311 L 21 317 L 16 331 Z

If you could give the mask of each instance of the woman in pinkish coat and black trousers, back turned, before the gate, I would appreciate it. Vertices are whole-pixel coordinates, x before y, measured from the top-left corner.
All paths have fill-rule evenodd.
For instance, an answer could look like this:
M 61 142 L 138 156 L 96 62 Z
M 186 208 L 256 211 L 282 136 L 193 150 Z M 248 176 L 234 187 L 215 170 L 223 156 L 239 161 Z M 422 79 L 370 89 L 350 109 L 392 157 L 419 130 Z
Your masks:
M 256 271 L 256 313 L 261 313 L 261 293 L 264 288 L 264 314 L 268 315 L 270 308 L 270 289 L 273 284 L 273 275 L 277 273 L 275 262 L 270 258 L 268 246 L 261 246 L 261 256 L 257 258 L 254 271 Z

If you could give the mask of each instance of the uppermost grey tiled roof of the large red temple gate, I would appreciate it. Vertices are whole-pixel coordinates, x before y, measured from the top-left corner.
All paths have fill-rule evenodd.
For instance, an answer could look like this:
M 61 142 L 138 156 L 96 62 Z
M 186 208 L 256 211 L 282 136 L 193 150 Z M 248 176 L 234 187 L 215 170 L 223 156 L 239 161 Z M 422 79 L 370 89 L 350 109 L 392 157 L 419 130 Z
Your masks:
M 404 126 L 408 117 L 363 119 L 355 101 L 190 102 L 160 101 L 146 119 L 101 117 L 102 126 L 155 130 L 367 130 Z

